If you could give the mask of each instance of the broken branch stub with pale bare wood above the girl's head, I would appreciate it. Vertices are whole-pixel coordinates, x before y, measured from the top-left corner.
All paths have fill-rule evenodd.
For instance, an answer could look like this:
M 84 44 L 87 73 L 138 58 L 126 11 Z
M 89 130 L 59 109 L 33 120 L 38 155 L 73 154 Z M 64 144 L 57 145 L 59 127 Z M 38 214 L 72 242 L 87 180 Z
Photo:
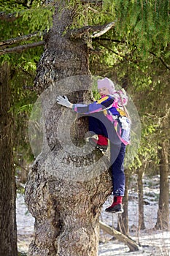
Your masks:
M 81 38 L 84 34 L 93 33 L 90 35 L 91 38 L 101 37 L 102 34 L 107 33 L 107 31 L 112 29 L 113 26 L 115 26 L 115 21 L 102 26 L 84 26 L 80 29 L 72 29 L 72 31 L 67 33 L 67 36 L 78 39 Z

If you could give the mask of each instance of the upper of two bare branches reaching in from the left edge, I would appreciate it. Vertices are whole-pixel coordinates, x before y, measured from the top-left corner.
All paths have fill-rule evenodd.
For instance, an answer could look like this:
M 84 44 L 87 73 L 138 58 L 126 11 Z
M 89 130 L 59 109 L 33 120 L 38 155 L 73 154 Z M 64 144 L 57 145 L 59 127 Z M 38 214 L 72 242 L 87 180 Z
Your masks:
M 31 39 L 33 37 L 42 37 L 42 33 L 34 32 L 32 34 L 26 34 L 26 35 L 23 35 L 21 37 L 15 37 L 15 38 L 7 39 L 7 41 L 0 42 L 0 48 L 4 47 L 6 45 L 14 45 L 18 42 L 23 42 L 23 41 L 26 41 L 26 40 Z

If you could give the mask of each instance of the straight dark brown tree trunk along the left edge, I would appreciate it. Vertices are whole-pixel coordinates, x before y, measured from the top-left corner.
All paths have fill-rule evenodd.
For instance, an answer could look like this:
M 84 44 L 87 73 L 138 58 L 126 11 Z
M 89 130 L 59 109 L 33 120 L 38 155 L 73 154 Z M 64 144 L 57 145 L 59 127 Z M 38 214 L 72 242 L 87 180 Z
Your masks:
M 12 158 L 12 116 L 10 108 L 9 64 L 0 69 L 0 255 L 17 255 L 15 217 L 15 170 Z

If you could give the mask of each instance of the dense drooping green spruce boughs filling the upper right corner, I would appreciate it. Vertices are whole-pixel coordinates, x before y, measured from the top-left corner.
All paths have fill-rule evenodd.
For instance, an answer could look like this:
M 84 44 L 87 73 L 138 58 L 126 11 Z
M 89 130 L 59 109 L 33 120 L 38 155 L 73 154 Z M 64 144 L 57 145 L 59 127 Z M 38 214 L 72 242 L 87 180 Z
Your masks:
M 115 0 L 117 34 L 148 52 L 158 49 L 160 56 L 169 45 L 170 3 L 165 0 Z

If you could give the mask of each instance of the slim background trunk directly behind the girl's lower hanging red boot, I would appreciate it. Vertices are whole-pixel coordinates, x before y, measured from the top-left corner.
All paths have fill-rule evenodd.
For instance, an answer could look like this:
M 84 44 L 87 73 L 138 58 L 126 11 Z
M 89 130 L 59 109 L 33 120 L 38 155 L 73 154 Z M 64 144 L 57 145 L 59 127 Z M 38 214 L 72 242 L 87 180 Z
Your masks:
M 118 227 L 124 235 L 128 236 L 128 186 L 129 186 L 129 170 L 125 170 L 125 196 L 123 197 L 123 214 L 118 215 Z

